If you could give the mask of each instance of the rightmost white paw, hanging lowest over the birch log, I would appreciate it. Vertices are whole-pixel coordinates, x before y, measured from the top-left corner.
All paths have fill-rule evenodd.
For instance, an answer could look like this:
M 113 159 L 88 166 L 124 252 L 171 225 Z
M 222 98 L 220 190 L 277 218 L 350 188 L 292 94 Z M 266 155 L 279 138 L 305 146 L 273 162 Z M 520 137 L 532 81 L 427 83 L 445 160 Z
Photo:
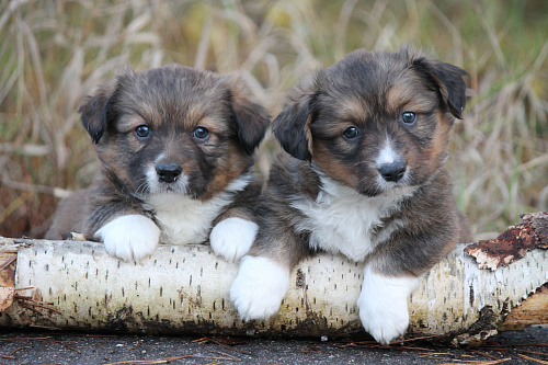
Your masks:
M 383 344 L 406 333 L 409 326 L 408 297 L 421 277 L 390 277 L 364 270 L 362 293 L 357 299 L 362 326 Z

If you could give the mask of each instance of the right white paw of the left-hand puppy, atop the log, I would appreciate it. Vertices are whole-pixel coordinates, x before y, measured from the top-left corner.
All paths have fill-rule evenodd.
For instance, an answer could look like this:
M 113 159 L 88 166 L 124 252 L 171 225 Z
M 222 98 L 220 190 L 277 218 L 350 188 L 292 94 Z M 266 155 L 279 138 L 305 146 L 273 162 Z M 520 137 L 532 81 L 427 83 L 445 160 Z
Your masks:
M 221 220 L 212 229 L 209 244 L 212 250 L 227 261 L 237 261 L 255 241 L 259 226 L 238 217 Z

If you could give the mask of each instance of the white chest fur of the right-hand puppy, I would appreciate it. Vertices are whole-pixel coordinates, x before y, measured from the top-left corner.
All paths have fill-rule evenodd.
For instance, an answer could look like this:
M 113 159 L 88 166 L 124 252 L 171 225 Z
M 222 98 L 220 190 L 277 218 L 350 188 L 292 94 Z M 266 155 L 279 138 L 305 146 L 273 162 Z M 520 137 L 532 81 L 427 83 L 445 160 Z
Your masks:
M 392 189 L 368 197 L 334 180 L 320 176 L 322 187 L 316 201 L 295 197 L 292 206 L 307 218 L 295 223 L 298 230 L 310 231 L 310 246 L 363 261 L 375 247 L 387 240 L 404 223 L 395 220 L 380 235 L 375 229 L 381 219 L 399 209 L 399 203 L 415 187 Z

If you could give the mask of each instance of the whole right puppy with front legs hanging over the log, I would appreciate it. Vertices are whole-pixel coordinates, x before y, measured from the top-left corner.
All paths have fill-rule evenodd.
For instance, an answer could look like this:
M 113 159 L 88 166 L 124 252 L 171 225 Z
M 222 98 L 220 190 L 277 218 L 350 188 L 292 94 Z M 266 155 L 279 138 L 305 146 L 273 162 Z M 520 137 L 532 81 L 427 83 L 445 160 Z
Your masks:
M 465 75 L 408 48 L 359 49 L 290 92 L 273 122 L 287 153 L 271 168 L 255 244 L 230 288 L 243 319 L 276 313 L 292 269 L 326 251 L 365 262 L 365 330 L 385 344 L 404 333 L 408 296 L 469 239 L 444 168 Z

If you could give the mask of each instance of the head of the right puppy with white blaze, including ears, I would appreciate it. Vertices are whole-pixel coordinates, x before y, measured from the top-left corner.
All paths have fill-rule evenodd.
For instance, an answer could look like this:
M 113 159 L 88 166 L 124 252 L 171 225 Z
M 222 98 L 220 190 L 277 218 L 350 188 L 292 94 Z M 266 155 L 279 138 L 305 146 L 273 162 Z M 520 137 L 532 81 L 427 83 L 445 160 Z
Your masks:
M 350 54 L 301 81 L 274 121 L 284 149 L 367 196 L 432 179 L 461 116 L 461 69 L 408 48 Z

